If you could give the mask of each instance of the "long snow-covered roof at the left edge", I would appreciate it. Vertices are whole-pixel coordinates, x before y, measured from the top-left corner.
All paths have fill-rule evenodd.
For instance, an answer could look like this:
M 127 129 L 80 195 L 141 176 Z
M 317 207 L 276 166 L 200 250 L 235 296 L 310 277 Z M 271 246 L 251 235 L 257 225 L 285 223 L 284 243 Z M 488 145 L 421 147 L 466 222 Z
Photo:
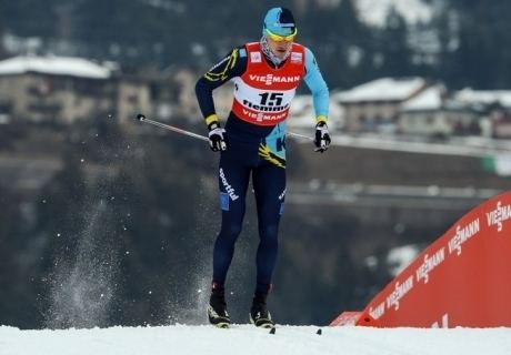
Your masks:
M 0 61 L 0 75 L 38 72 L 90 79 L 107 79 L 111 71 L 83 58 L 71 57 L 14 57 Z

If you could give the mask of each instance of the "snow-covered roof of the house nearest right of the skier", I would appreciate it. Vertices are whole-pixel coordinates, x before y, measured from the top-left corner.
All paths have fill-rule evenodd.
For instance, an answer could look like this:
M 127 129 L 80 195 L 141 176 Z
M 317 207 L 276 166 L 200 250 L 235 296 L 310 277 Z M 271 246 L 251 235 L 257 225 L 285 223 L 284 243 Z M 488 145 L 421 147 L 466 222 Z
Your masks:
M 424 87 L 425 80 L 422 78 L 381 78 L 340 92 L 337 98 L 342 103 L 404 101 Z

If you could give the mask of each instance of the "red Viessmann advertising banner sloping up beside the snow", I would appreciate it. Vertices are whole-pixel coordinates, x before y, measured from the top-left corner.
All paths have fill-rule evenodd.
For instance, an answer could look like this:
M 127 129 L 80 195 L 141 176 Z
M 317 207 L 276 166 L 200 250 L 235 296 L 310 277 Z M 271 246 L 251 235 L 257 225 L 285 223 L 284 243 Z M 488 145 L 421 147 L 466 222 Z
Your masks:
M 377 327 L 511 326 L 511 192 L 470 211 L 357 315 Z M 345 324 L 342 314 L 331 325 Z

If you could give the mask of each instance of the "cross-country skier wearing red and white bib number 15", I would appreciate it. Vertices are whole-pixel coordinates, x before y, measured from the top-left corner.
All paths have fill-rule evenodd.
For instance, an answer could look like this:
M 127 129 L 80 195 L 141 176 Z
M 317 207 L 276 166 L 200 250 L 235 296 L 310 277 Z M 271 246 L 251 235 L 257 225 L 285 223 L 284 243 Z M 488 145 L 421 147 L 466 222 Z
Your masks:
M 259 42 L 234 48 L 196 84 L 199 106 L 209 129 L 212 151 L 220 151 L 219 187 L 222 224 L 213 248 L 213 278 L 208 317 L 228 327 L 224 284 L 241 232 L 250 175 L 259 224 L 257 284 L 250 321 L 274 325 L 267 308 L 277 261 L 278 227 L 285 196 L 285 119 L 302 80 L 312 92 L 315 110 L 315 151 L 330 145 L 327 126 L 329 90 L 312 52 L 298 43 L 289 9 L 272 8 L 263 20 Z M 232 80 L 234 99 L 226 128 L 216 113 L 212 91 Z

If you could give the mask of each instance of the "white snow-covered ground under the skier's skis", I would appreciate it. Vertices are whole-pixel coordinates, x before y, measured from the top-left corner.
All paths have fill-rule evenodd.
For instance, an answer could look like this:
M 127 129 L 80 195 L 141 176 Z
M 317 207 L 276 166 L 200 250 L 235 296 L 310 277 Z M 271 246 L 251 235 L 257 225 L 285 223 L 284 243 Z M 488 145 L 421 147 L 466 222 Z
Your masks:
M 365 328 L 279 326 L 271 335 L 251 325 L 112 327 L 20 331 L 0 327 L 2 355 L 509 355 L 511 328 Z

